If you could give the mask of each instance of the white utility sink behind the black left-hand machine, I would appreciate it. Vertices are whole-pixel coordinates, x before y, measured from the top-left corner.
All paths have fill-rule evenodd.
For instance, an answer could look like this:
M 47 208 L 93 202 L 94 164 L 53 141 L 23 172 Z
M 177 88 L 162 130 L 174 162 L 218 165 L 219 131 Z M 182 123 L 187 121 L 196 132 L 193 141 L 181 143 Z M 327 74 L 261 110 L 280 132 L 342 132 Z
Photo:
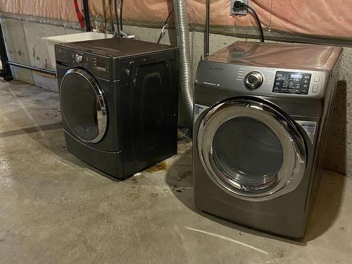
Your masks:
M 111 37 L 113 37 L 113 34 L 105 34 L 105 33 L 99 33 L 99 32 L 82 32 L 82 33 L 75 33 L 75 34 L 63 34 L 61 36 L 54 36 L 54 37 L 43 37 L 43 39 L 46 40 L 46 44 L 48 45 L 51 65 L 53 65 L 54 69 L 56 69 L 55 49 L 54 49 L 55 44 L 64 43 L 64 42 L 83 42 L 85 40 L 91 40 L 91 39 L 110 39 Z

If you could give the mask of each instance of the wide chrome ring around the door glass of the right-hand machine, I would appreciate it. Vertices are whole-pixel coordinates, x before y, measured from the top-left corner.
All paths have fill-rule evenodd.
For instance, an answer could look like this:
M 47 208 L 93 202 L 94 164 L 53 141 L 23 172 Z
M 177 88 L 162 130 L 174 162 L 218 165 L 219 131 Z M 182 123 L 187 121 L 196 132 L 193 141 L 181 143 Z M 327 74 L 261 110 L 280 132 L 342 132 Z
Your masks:
M 234 181 L 234 177 L 218 168 L 213 153 L 213 138 L 220 125 L 233 118 L 253 118 L 270 127 L 282 144 L 283 162 L 277 172 L 277 182 L 258 186 L 257 191 L 248 191 Z M 301 182 L 306 170 L 306 145 L 294 120 L 277 111 L 270 104 L 255 98 L 232 99 L 213 107 L 201 121 L 197 137 L 199 157 L 208 177 L 221 189 L 248 201 L 268 201 L 293 191 Z M 219 176 L 222 177 L 219 177 Z M 268 189 L 270 188 L 270 189 Z

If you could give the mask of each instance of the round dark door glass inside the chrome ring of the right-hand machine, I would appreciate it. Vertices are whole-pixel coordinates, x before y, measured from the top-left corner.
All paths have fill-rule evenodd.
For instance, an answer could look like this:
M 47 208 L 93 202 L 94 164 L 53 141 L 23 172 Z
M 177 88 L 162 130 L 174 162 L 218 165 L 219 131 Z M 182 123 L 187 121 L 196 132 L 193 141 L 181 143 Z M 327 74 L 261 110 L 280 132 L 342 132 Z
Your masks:
M 282 146 L 275 132 L 263 122 L 246 117 L 226 121 L 215 132 L 213 151 L 221 170 L 248 190 L 276 184 Z

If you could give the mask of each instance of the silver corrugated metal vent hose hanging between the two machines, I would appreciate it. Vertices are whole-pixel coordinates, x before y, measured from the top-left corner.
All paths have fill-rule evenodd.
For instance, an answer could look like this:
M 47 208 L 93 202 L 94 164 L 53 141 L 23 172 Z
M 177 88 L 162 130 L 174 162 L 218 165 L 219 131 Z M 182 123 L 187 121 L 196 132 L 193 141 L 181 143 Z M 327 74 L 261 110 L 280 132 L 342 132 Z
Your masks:
M 187 114 L 193 117 L 193 82 L 187 4 L 185 0 L 174 0 L 177 43 L 180 48 L 180 86 Z

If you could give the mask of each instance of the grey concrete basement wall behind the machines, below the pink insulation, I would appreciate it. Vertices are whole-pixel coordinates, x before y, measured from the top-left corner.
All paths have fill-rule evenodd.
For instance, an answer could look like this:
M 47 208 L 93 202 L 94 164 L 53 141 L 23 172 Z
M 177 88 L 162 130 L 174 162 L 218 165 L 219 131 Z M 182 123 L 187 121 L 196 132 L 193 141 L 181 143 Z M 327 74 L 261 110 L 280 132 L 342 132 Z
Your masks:
M 42 37 L 59 34 L 71 34 L 77 30 L 64 29 L 52 25 L 43 25 L 25 21 L 4 18 L 0 20 L 8 56 L 11 61 L 25 63 L 42 68 L 51 68 L 49 53 Z M 127 33 L 134 34 L 137 39 L 156 42 L 159 29 L 125 25 Z M 193 73 L 203 55 L 203 33 L 190 32 L 191 59 Z M 210 35 L 210 52 L 221 49 L 239 38 L 220 34 Z M 241 39 L 244 40 L 244 39 Z M 167 31 L 163 44 L 177 44 L 175 30 Z M 46 89 L 57 90 L 56 80 L 50 75 L 34 73 L 30 70 L 13 68 L 15 78 L 36 84 Z M 327 142 L 325 168 L 335 170 L 345 175 L 352 175 L 352 48 L 345 48 L 342 57 L 341 74 L 337 100 L 334 106 L 334 116 L 330 136 Z M 180 124 L 189 124 L 180 101 Z

